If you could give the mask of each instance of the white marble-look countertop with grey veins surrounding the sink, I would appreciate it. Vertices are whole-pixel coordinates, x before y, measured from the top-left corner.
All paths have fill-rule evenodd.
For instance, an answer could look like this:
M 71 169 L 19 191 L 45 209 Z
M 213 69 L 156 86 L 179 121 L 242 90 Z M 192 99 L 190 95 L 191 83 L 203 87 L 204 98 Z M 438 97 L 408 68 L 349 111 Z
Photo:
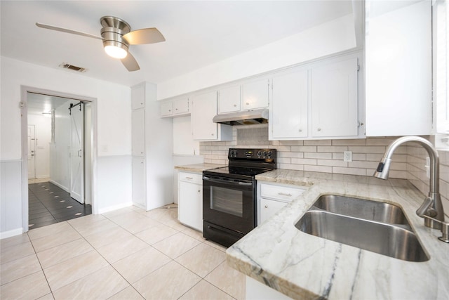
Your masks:
M 307 190 L 227 249 L 227 262 L 236 270 L 293 299 L 447 299 L 449 244 L 415 214 L 424 195 L 410 182 L 280 169 L 256 179 Z M 397 204 L 429 261 L 394 259 L 297 230 L 295 223 L 311 204 L 330 193 Z

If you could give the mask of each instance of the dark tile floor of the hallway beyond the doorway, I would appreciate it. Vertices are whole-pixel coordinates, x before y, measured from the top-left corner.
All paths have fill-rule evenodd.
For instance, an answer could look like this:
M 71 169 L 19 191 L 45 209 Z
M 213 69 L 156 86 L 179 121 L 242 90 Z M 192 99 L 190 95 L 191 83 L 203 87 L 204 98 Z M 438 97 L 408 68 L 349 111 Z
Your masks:
M 92 214 L 91 205 L 81 204 L 53 183 L 28 185 L 29 229 Z

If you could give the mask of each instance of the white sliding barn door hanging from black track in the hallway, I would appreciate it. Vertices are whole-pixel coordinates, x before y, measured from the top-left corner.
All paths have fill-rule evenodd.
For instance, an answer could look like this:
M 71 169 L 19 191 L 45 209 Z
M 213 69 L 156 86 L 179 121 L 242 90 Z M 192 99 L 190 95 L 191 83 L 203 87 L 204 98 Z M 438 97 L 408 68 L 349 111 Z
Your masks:
M 74 103 L 75 105 L 76 103 Z M 81 110 L 80 110 L 81 107 Z M 84 203 L 84 109 L 83 104 L 72 108 L 72 138 L 70 143 L 70 160 L 72 167 L 70 197 Z

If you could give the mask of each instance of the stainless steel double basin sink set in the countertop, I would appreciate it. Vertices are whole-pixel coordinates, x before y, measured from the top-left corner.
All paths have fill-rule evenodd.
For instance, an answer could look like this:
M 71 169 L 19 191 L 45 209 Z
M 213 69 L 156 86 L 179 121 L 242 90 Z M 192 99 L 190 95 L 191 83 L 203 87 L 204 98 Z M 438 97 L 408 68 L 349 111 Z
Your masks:
M 428 261 L 401 207 L 338 195 L 322 195 L 297 221 L 304 233 L 404 261 Z

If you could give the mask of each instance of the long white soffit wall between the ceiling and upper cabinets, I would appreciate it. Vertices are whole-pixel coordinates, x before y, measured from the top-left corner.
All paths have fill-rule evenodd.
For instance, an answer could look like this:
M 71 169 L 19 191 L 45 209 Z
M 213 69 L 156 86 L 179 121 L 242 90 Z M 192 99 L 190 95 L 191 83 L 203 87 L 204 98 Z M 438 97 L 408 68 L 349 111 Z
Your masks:
M 288 67 L 356 47 L 354 15 L 346 15 L 285 39 L 158 84 L 158 100 Z

